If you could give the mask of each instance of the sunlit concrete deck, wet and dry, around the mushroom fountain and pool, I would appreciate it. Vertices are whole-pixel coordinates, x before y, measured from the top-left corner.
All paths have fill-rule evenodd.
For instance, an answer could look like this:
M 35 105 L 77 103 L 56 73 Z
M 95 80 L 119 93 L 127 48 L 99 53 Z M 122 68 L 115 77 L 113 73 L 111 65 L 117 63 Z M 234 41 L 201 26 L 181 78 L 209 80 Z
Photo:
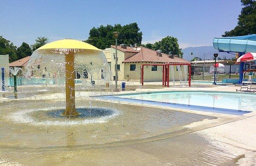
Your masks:
M 211 86 L 153 89 L 153 87 L 154 85 L 149 85 L 148 89 L 137 89 L 136 91 L 213 90 L 234 92 L 237 88 L 235 86 Z M 39 94 L 24 92 L 24 94 L 20 94 L 20 98 L 7 98 L 3 100 L 5 102 L 0 103 L 2 122 L 0 126 L 2 131 L 0 135 L 0 165 L 230 166 L 239 164 L 253 166 L 256 164 L 256 113 L 254 112 L 237 116 L 164 107 L 151 108 L 146 105 L 126 105 L 127 103 L 120 102 L 115 104 L 113 102 L 115 107 L 121 107 L 125 115 L 123 118 L 117 118 L 116 121 L 112 119 L 108 123 L 99 125 L 98 129 L 92 124 L 89 128 L 87 127 L 88 129 L 86 129 L 86 125 L 77 127 L 35 126 L 34 124 L 17 123 L 6 118 L 6 114 L 24 108 L 54 105 L 63 107 L 63 93 L 59 93 L 58 89 L 56 90 L 54 87 L 51 88 L 54 90 L 53 92 L 45 91 Z M 99 94 L 97 91 L 77 92 L 77 104 L 83 105 L 89 102 L 100 105 L 99 103 L 107 102 L 87 100 L 88 96 L 97 94 Z M 100 94 L 113 94 L 113 92 L 101 92 Z M 107 103 L 103 103 L 103 105 Z M 133 118 L 132 115 L 139 113 L 136 110 L 143 111 L 138 114 L 138 117 Z M 174 114 L 175 116 L 172 116 Z M 31 115 L 32 118 L 44 116 L 44 113 Z M 161 118 L 155 119 L 156 117 Z M 168 121 L 170 117 L 172 117 L 172 121 Z M 177 123 L 173 123 L 175 119 L 178 119 Z M 147 132 L 141 134 L 139 129 Z M 70 135 L 72 130 L 76 132 Z M 98 135 L 88 139 L 92 133 L 95 133 L 95 130 L 99 130 Z M 132 136 L 125 136 L 125 139 L 119 136 L 114 137 L 119 140 L 110 139 L 113 138 L 109 136 L 110 133 L 124 134 L 127 131 L 129 133 L 137 132 L 134 132 L 136 134 Z M 149 135 L 147 135 L 148 133 Z M 104 135 L 108 136 L 104 137 Z M 97 137 L 101 140 L 97 141 Z M 102 141 L 102 138 L 105 139 L 105 142 Z

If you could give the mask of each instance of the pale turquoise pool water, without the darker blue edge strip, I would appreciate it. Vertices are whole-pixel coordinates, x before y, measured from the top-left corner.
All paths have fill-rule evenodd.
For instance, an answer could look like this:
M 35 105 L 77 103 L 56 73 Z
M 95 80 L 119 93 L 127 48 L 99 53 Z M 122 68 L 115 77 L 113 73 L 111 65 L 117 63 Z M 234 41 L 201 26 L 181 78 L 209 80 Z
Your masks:
M 141 101 L 156 101 L 161 103 L 179 104 L 185 106 L 198 106 L 201 108 L 214 108 L 224 110 L 256 111 L 256 94 L 224 93 L 224 92 L 153 92 L 141 94 L 120 95 L 119 98 L 135 99 Z

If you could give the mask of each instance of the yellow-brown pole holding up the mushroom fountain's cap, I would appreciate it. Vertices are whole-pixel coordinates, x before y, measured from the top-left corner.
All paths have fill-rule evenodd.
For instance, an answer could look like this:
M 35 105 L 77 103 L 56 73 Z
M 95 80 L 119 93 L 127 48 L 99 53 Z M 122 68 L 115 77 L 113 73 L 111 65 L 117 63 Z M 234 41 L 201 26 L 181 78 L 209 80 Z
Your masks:
M 65 55 L 66 72 L 66 110 L 62 113 L 64 116 L 78 116 L 75 106 L 75 63 L 74 52 L 70 51 Z

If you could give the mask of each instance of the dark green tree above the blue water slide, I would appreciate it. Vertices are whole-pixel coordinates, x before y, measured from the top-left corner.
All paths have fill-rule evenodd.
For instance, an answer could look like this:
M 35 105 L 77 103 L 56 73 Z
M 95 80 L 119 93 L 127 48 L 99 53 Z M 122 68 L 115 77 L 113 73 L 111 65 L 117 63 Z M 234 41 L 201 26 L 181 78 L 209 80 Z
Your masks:
M 241 14 L 238 17 L 238 25 L 231 31 L 226 31 L 222 37 L 243 36 L 256 34 L 256 1 L 241 0 Z

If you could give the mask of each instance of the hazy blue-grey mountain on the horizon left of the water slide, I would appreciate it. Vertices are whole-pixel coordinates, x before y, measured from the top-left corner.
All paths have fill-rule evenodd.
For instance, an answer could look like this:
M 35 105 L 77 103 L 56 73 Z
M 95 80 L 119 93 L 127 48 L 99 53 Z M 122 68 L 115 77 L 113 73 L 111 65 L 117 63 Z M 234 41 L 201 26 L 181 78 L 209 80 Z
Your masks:
M 221 53 L 218 52 L 218 50 L 216 50 L 213 46 L 200 46 L 200 47 L 188 47 L 188 48 L 184 48 L 182 49 L 183 52 L 183 59 L 186 60 L 191 60 L 193 59 L 195 56 L 204 59 L 204 53 L 205 52 L 205 59 L 213 59 L 213 53 L 218 53 L 218 57 L 220 57 L 221 59 L 226 56 L 227 59 L 229 58 L 233 58 L 235 55 L 230 54 L 230 53 Z M 193 53 L 193 56 L 191 56 L 191 53 Z

